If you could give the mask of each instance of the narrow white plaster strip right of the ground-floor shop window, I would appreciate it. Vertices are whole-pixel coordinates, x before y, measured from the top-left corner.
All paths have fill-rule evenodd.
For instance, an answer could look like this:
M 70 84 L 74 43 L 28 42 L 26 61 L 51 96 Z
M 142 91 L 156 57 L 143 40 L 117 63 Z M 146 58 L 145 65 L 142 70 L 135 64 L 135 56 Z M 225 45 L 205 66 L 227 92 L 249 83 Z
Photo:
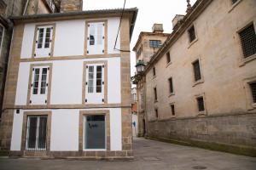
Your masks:
M 122 150 L 121 109 L 110 109 L 110 150 Z

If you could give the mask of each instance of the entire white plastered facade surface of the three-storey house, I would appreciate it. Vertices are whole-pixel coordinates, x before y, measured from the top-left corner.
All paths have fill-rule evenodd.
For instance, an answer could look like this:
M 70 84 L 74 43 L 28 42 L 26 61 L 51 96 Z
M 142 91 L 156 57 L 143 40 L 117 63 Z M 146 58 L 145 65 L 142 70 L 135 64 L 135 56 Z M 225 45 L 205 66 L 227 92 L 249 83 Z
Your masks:
M 90 29 L 87 28 L 86 32 L 86 23 L 96 22 L 102 24 L 102 22 L 97 22 L 96 20 L 63 20 L 25 25 L 20 59 L 27 60 L 21 61 L 19 65 L 15 105 L 59 105 L 60 108 L 20 110 L 19 113 L 15 111 L 11 150 L 21 150 L 22 148 L 21 138 L 22 127 L 24 127 L 24 112 L 49 111 L 51 113 L 49 150 L 78 151 L 79 112 L 97 110 L 109 111 L 110 150 L 122 150 L 121 108 L 102 107 L 101 109 L 83 109 L 86 104 L 121 104 L 120 56 L 119 51 L 113 50 L 115 37 L 117 36 L 119 28 L 119 18 L 103 18 L 101 20 L 105 20 L 104 23 L 107 23 L 107 26 L 104 25 L 99 28 L 99 30 L 96 30 L 98 33 L 101 29 L 103 30 L 102 34 L 99 33 L 99 35 L 97 35 L 98 37 L 104 36 L 101 40 L 102 43 L 100 42 L 101 50 L 98 49 L 99 47 L 84 48 L 85 43 L 87 43 L 87 46 L 90 46 L 90 42 L 87 41 L 86 37 L 87 33 L 90 34 Z M 40 28 L 44 27 L 44 31 L 40 31 Z M 48 27 L 50 28 L 49 30 L 47 30 Z M 49 31 L 49 35 L 47 35 L 47 31 Z M 40 34 L 42 34 L 42 37 L 39 36 Z M 105 46 L 105 38 L 108 38 L 106 41 L 108 46 Z M 36 42 L 34 42 L 34 40 L 36 40 Z M 42 48 L 38 48 L 40 46 L 38 43 L 41 43 L 40 41 L 43 44 Z M 49 42 L 49 48 L 44 46 L 45 42 Z M 51 47 L 53 48 L 51 49 Z M 102 48 L 105 47 L 108 47 L 106 49 L 107 53 L 102 52 Z M 120 36 L 116 48 L 120 48 Z M 86 54 L 86 50 L 88 49 L 90 50 L 90 55 L 97 54 L 97 57 L 86 57 L 89 56 L 88 53 Z M 104 54 L 115 55 L 108 57 Z M 61 59 L 60 57 L 67 59 Z M 86 69 L 84 63 L 89 63 L 89 65 L 107 64 L 105 67 L 102 67 L 102 93 L 100 95 L 89 94 L 89 88 L 87 88 L 89 75 L 88 72 L 84 73 Z M 48 68 L 47 78 L 44 84 L 44 87 L 46 87 L 46 91 L 43 93 L 44 95 L 41 89 L 43 87 L 43 78 L 38 79 L 38 85 L 36 87 L 38 92 L 34 94 L 35 82 L 37 82 L 34 70 L 37 67 Z M 105 72 L 107 79 L 105 79 Z M 42 77 L 42 74 L 40 74 L 40 77 Z M 98 72 L 96 72 L 96 74 L 98 74 Z M 86 82 L 85 88 L 83 88 L 84 80 Z M 95 83 L 97 83 L 97 80 L 98 77 L 94 80 Z M 96 86 L 98 86 L 98 84 L 96 84 Z M 104 88 L 105 86 L 107 88 Z M 105 89 L 107 89 L 108 93 Z M 107 102 L 102 100 L 106 93 L 108 94 Z M 38 97 L 37 94 L 40 94 L 41 97 Z M 88 100 L 87 103 L 86 101 L 84 103 L 84 94 L 86 96 L 85 98 Z M 65 105 L 67 109 L 61 109 L 63 105 Z M 80 108 L 73 109 L 73 105 L 79 105 L 78 107 Z

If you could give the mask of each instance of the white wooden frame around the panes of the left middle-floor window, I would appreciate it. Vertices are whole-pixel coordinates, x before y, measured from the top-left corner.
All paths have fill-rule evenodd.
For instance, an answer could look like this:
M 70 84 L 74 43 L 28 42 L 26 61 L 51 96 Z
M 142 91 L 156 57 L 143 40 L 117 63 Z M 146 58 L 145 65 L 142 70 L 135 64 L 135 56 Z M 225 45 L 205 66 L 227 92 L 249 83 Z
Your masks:
M 39 69 L 38 93 L 33 94 L 33 89 L 35 86 L 35 73 L 37 69 Z M 41 94 L 43 69 L 47 69 L 47 74 L 46 74 L 46 81 L 45 81 L 45 93 Z M 47 101 L 48 99 L 47 96 L 49 91 L 49 71 L 50 71 L 49 65 L 32 67 L 32 81 L 31 81 L 30 102 L 29 102 L 30 105 L 47 105 L 47 103 L 49 103 L 49 101 Z

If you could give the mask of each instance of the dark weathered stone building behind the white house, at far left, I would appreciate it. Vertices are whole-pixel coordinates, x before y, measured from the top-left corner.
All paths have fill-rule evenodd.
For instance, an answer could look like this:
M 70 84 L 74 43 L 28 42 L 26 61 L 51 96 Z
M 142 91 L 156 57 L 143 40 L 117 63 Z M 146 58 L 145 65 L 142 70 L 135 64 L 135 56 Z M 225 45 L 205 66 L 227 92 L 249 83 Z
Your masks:
M 49 14 L 59 11 L 60 0 L 0 0 L 0 117 L 3 106 L 4 83 L 13 32 L 10 16 Z

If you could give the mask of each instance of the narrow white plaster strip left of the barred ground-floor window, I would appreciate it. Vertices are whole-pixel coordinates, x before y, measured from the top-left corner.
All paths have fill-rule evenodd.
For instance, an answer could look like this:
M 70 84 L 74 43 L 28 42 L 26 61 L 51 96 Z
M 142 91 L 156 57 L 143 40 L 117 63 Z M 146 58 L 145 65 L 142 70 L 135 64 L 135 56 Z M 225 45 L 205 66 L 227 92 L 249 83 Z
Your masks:
M 20 111 L 20 114 L 16 114 L 16 111 L 14 111 L 14 122 L 13 122 L 10 150 L 20 150 L 21 136 L 22 136 L 22 123 L 23 123 L 23 111 Z

